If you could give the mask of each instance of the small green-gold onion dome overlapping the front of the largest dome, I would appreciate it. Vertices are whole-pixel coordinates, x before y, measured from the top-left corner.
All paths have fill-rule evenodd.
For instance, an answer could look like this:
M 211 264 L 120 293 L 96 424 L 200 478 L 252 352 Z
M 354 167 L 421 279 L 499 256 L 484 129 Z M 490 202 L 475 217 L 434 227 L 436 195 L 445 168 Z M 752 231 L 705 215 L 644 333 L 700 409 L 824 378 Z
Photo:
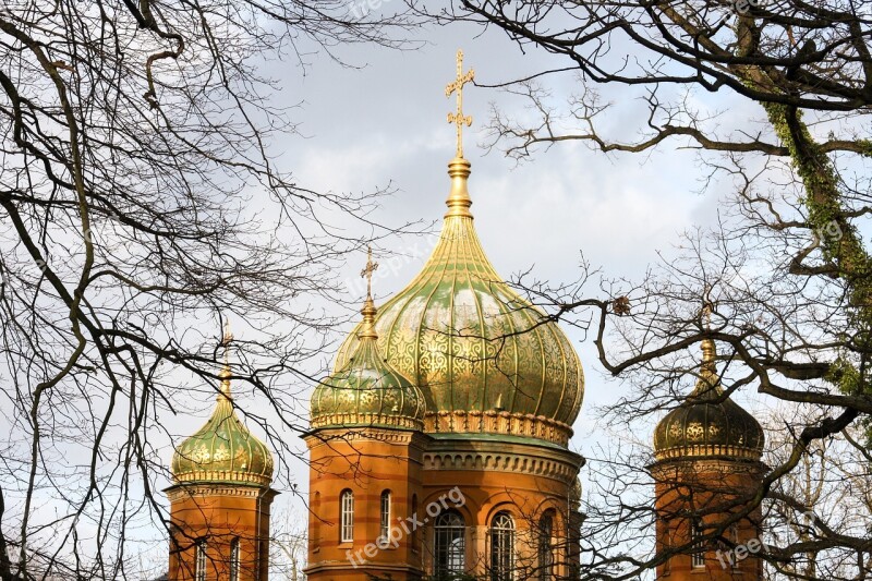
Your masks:
M 421 429 L 424 396 L 378 352 L 376 310 L 367 296 L 353 355 L 312 395 L 312 427 L 388 426 Z

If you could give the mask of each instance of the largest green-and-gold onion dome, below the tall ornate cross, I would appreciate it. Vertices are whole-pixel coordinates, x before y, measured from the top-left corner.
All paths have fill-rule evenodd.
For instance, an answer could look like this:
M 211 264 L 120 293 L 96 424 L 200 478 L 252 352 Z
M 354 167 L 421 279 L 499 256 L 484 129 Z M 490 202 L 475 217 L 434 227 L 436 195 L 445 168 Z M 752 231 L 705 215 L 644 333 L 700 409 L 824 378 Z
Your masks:
M 439 241 L 376 318 L 380 352 L 424 392 L 426 432 L 509 434 L 565 446 L 584 391 L 581 362 L 560 328 L 487 259 L 470 213 L 470 162 L 456 157 L 448 174 Z M 359 344 L 352 332 L 337 368 Z

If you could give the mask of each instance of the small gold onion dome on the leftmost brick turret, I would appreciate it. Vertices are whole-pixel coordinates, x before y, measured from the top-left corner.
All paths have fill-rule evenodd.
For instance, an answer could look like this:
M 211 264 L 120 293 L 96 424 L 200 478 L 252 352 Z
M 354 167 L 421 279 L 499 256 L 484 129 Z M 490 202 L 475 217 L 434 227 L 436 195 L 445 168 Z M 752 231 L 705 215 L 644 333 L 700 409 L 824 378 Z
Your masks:
M 239 420 L 230 399 L 230 370 L 221 371 L 215 411 L 172 456 L 175 484 L 209 482 L 269 486 L 272 453 Z

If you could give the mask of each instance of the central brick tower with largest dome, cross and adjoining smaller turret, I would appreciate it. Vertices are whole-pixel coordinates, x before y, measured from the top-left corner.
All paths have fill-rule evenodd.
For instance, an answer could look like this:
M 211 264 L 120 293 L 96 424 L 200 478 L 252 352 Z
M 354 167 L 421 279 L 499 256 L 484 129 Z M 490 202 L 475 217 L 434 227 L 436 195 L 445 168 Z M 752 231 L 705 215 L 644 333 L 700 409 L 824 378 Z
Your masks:
M 584 460 L 569 438 L 584 376 L 559 325 L 505 282 L 475 231 L 460 96 L 472 77 L 459 52 L 436 246 L 378 313 L 367 299 L 337 375 L 315 390 L 311 581 L 554 581 L 578 570 Z M 516 223 L 507 237 L 525 234 Z M 400 538 L 379 548 L 386 522 Z

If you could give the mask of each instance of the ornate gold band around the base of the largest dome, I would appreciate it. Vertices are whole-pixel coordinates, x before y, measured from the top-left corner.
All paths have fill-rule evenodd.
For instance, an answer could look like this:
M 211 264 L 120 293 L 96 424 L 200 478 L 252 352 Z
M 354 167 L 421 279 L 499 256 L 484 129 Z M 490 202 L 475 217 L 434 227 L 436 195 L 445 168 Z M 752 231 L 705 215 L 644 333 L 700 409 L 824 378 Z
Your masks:
M 424 415 L 424 432 L 431 434 L 505 434 L 544 439 L 566 447 L 572 428 L 562 422 L 532 413 L 507 411 L 438 411 Z

